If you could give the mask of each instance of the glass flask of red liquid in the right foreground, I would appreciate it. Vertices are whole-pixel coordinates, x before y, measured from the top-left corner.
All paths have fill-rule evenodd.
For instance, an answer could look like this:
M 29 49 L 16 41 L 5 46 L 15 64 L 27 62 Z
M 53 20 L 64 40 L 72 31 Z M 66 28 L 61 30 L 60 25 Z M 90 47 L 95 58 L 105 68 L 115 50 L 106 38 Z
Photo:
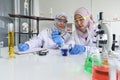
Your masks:
M 98 64 L 99 63 L 99 64 Z M 111 80 L 111 66 L 105 64 L 100 54 L 94 54 L 92 59 L 92 80 Z M 112 72 L 115 77 L 112 80 L 118 80 L 118 73 Z

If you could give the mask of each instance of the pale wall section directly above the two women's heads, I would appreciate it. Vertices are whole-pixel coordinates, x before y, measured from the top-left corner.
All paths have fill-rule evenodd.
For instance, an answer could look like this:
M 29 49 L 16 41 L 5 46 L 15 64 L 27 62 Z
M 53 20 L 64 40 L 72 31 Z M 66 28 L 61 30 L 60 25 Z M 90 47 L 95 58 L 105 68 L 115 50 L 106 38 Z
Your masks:
M 52 8 L 53 17 L 59 12 L 65 12 L 68 15 L 69 22 L 73 22 L 74 11 L 85 6 L 91 10 L 91 0 L 40 0 L 40 13 L 45 17 L 50 17 L 50 8 Z

